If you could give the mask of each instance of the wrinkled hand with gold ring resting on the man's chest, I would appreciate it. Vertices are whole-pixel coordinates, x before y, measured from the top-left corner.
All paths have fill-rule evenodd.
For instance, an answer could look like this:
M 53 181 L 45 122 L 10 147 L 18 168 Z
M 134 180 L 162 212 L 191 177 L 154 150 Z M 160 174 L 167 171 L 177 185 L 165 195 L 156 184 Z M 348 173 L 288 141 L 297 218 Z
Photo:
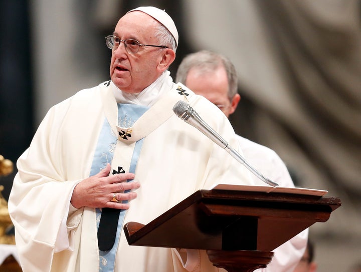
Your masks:
M 133 173 L 110 175 L 110 164 L 101 170 L 98 174 L 86 178 L 79 182 L 73 191 L 71 204 L 75 208 L 115 208 L 128 209 L 129 204 L 121 203 L 122 200 L 132 200 L 137 197 L 136 192 L 124 193 L 125 190 L 137 189 L 140 184 L 135 181 L 125 182 L 127 179 L 133 179 Z M 113 193 L 120 202 L 112 202 Z

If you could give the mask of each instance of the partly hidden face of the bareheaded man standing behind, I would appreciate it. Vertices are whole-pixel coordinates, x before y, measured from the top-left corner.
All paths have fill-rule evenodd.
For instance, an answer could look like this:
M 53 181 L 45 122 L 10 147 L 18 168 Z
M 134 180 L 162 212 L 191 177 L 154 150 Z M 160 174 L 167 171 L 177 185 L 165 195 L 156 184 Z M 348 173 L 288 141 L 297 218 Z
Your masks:
M 192 68 L 187 75 L 185 85 L 196 94 L 218 105 L 227 117 L 233 113 L 234 110 L 228 98 L 227 73 L 222 66 L 207 73 L 201 73 L 197 67 Z

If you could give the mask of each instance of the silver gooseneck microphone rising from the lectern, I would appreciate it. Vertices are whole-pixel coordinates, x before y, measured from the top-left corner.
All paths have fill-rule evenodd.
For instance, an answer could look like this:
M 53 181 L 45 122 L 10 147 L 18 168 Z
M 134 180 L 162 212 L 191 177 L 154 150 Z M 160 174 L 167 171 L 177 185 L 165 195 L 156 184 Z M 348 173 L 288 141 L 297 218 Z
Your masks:
M 260 172 L 258 172 L 252 165 L 250 165 L 236 150 L 234 150 L 225 139 L 223 139 L 214 129 L 212 129 L 203 119 L 199 116 L 199 114 L 186 102 L 178 101 L 173 106 L 173 112 L 180 119 L 184 120 L 186 123 L 194 126 L 199 131 L 201 131 L 204 135 L 210 138 L 213 142 L 218 144 L 223 149 L 226 149 L 227 152 L 234 157 L 238 162 L 243 164 L 246 168 L 248 168 L 254 175 L 256 175 L 263 182 L 267 183 L 271 186 L 278 186 L 277 183 L 268 179 Z

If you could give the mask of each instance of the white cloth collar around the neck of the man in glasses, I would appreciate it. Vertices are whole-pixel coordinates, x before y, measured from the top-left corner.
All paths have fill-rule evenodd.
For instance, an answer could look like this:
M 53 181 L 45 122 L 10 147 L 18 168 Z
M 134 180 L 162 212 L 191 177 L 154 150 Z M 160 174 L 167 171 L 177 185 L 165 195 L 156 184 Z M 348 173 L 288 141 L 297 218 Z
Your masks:
M 169 71 L 164 71 L 152 84 L 136 94 L 123 92 L 116 87 L 113 89 L 115 100 L 117 103 L 151 107 L 163 92 L 172 87 L 173 80 L 169 75 Z M 168 88 L 166 88 L 167 86 Z

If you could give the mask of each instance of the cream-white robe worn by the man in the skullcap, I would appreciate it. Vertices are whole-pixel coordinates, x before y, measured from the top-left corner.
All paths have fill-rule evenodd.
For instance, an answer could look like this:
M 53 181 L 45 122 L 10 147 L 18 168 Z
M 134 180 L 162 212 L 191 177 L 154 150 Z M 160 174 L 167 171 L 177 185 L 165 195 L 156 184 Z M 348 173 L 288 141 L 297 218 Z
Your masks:
M 172 107 L 178 100 L 188 99 L 202 118 L 238 149 L 227 118 L 205 98 L 191 91 L 189 96 L 181 96 L 176 87 L 163 84 L 161 88 L 167 91 L 132 126 L 131 141 L 145 136 L 135 170 L 141 187 L 130 202 L 124 223 L 146 224 L 196 190 L 217 183 L 252 184 L 244 166 L 175 116 Z M 111 82 L 102 83 L 52 107 L 17 162 L 19 172 L 9 197 L 9 212 L 24 272 L 99 271 L 95 209 L 74 209 L 70 198 L 75 185 L 89 177 L 105 118 L 112 127 L 109 133 L 117 133 L 114 88 Z M 128 152 L 130 145 L 118 141 L 114 157 L 123 150 Z M 184 254 L 171 248 L 129 246 L 122 232 L 114 271 L 221 270 L 212 265 L 205 251 L 190 250 L 188 259 L 180 256 Z

